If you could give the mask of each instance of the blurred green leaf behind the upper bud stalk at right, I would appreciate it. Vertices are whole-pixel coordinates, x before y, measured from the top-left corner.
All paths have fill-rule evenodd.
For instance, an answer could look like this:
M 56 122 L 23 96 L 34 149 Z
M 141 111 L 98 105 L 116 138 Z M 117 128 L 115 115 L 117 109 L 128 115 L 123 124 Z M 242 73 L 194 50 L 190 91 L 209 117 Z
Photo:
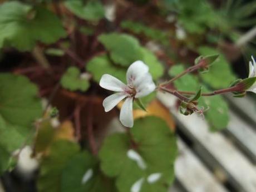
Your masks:
M 230 63 L 223 54 L 211 47 L 199 47 L 198 51 L 200 55 L 219 55 L 219 58 L 210 66 L 208 73 L 200 73 L 204 82 L 213 88 L 225 88 L 235 80 L 236 77 L 232 72 Z

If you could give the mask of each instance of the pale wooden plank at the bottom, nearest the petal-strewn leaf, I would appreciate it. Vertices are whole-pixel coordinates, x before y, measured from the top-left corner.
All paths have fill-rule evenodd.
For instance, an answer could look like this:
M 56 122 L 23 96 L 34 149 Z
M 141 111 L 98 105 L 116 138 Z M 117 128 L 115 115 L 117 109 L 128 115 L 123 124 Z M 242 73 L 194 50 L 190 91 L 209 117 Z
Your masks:
M 178 146 L 179 156 L 175 161 L 175 175 L 186 191 L 227 191 L 181 139 L 178 139 Z

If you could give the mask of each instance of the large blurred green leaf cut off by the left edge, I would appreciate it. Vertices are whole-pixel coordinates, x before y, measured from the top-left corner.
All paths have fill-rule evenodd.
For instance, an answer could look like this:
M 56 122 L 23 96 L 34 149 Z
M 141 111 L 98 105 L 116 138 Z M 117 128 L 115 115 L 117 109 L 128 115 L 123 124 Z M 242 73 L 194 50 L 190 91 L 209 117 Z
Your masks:
M 32 122 L 41 116 L 37 87 L 28 78 L 0 73 L 0 173 L 9 156 L 24 144 Z

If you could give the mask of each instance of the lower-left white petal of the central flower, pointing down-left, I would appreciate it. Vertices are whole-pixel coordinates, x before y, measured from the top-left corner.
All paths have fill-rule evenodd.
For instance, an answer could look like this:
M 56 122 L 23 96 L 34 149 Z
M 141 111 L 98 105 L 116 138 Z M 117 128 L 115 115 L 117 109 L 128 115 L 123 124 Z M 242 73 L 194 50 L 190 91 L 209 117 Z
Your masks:
M 108 112 L 113 109 L 120 101 L 125 99 L 126 96 L 124 92 L 119 92 L 106 97 L 102 104 L 105 111 Z

